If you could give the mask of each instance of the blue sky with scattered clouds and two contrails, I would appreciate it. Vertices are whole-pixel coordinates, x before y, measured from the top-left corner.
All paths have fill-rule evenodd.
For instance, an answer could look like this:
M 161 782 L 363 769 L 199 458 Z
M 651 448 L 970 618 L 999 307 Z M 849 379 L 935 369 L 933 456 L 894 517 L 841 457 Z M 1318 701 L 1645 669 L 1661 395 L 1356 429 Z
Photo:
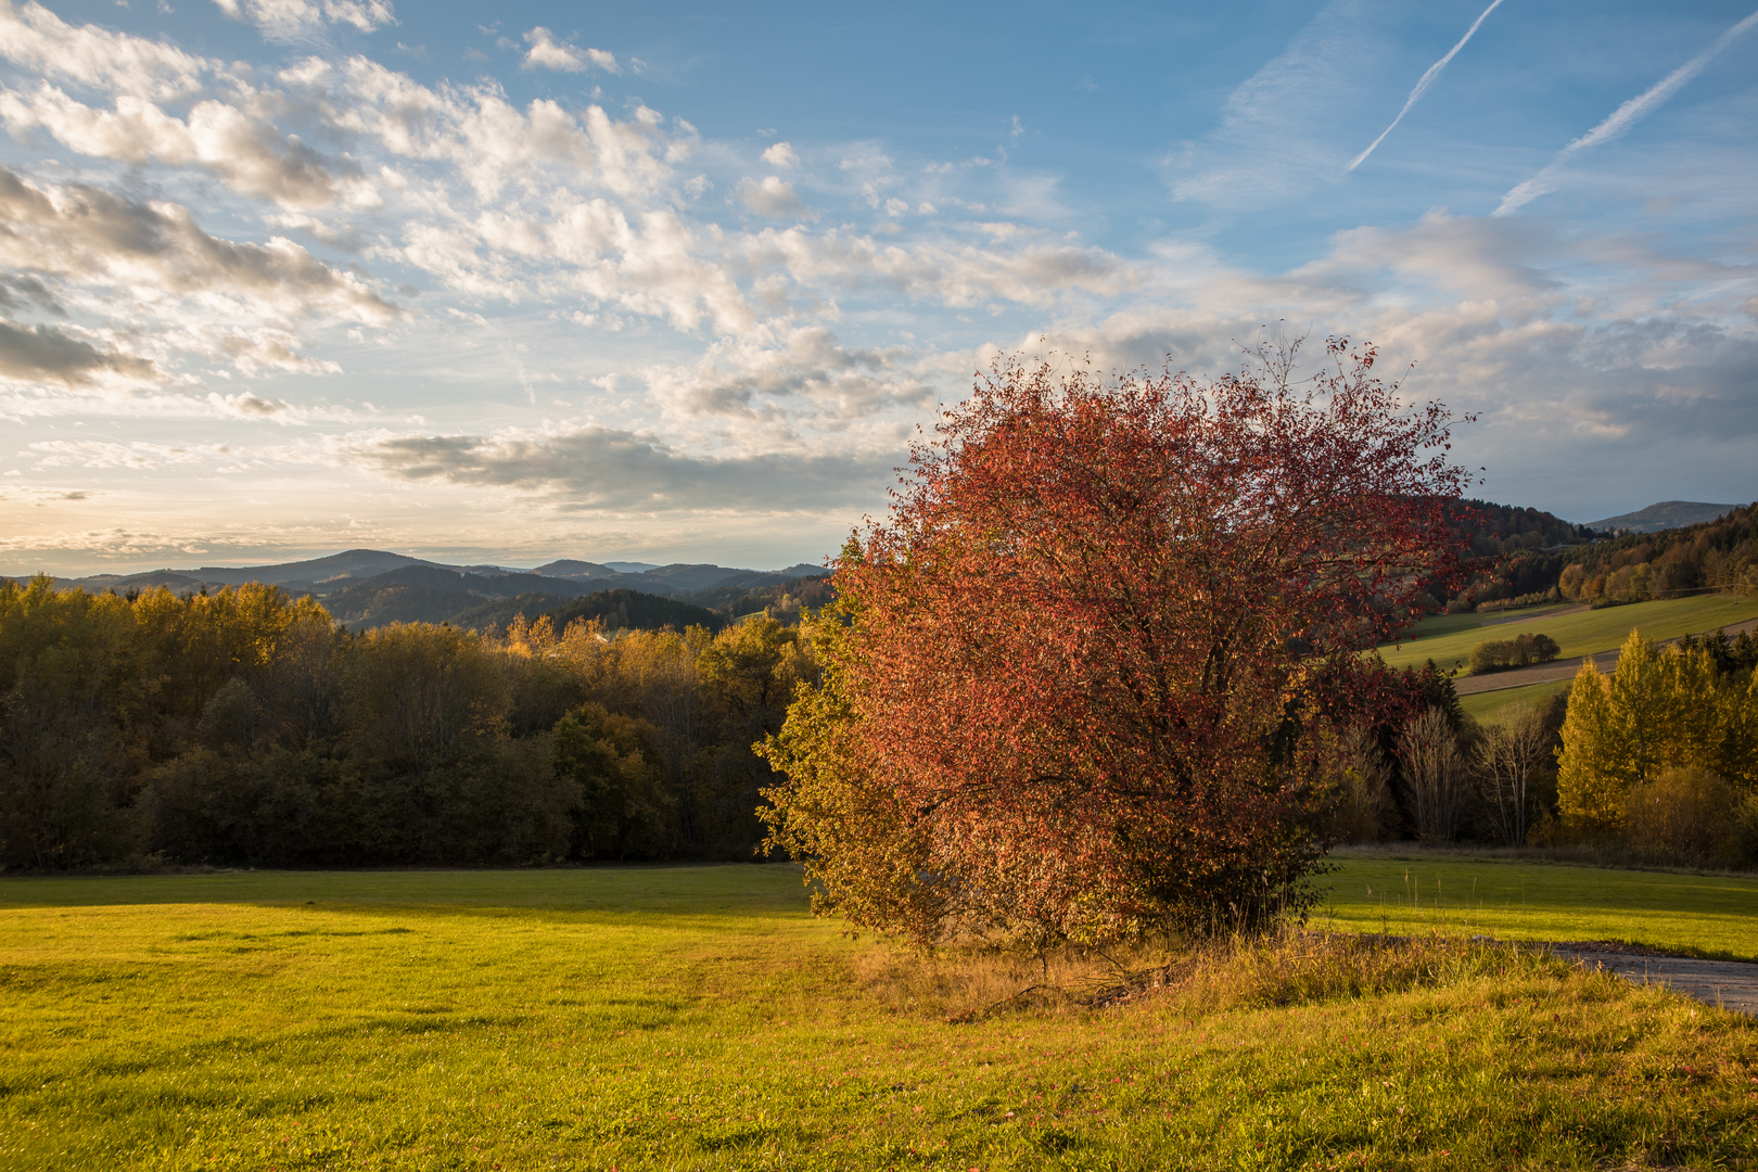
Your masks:
M 1746 503 L 1751 2 L 0 0 L 0 569 L 817 562 L 999 355 L 1266 329 Z

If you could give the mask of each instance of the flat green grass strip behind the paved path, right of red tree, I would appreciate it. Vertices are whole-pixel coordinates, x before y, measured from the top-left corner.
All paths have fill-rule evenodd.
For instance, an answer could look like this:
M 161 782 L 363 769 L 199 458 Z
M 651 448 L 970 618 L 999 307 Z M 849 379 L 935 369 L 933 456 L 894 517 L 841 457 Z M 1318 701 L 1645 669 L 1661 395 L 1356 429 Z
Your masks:
M 1352 931 L 1623 940 L 1758 959 L 1758 879 L 1343 849 L 1315 922 Z

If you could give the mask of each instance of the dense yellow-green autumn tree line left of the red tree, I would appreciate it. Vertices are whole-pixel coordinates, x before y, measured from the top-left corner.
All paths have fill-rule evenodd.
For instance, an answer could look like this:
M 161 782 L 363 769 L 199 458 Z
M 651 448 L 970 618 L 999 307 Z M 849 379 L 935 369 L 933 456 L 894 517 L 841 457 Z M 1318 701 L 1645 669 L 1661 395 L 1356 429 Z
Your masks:
M 0 865 L 751 857 L 798 629 L 607 634 L 4 582 Z

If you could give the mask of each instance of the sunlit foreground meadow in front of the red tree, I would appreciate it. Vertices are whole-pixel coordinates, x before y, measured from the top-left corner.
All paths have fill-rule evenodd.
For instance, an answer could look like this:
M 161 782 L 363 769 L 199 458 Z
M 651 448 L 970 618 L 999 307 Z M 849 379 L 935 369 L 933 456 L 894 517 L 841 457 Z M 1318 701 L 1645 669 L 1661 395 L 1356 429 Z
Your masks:
M 784 866 L 9 879 L 0 1167 L 1758 1167 L 1758 1023 L 1311 940 L 951 1024 Z

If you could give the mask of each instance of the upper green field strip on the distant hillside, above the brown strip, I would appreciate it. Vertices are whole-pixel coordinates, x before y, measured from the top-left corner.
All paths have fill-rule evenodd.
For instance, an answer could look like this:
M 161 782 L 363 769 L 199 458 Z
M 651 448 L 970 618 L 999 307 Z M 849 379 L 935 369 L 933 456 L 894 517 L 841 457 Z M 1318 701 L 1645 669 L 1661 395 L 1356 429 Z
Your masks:
M 1475 626 L 1461 620 L 1475 619 Z M 1577 610 L 1558 615 L 1554 610 L 1526 613 L 1519 622 L 1484 626 L 1496 615 L 1443 615 L 1417 624 L 1410 643 L 1385 645 L 1380 655 L 1394 668 L 1417 668 L 1433 659 L 1440 668 L 1464 666 L 1471 648 L 1484 640 L 1512 640 L 1517 634 L 1549 634 L 1563 652 L 1563 659 L 1593 655 L 1623 647 L 1631 627 L 1651 640 L 1675 640 L 1681 634 L 1714 631 L 1735 622 L 1758 619 L 1758 597 L 1732 594 L 1704 594 L 1660 603 L 1633 603 L 1605 610 Z M 1440 626 L 1427 626 L 1440 624 Z

